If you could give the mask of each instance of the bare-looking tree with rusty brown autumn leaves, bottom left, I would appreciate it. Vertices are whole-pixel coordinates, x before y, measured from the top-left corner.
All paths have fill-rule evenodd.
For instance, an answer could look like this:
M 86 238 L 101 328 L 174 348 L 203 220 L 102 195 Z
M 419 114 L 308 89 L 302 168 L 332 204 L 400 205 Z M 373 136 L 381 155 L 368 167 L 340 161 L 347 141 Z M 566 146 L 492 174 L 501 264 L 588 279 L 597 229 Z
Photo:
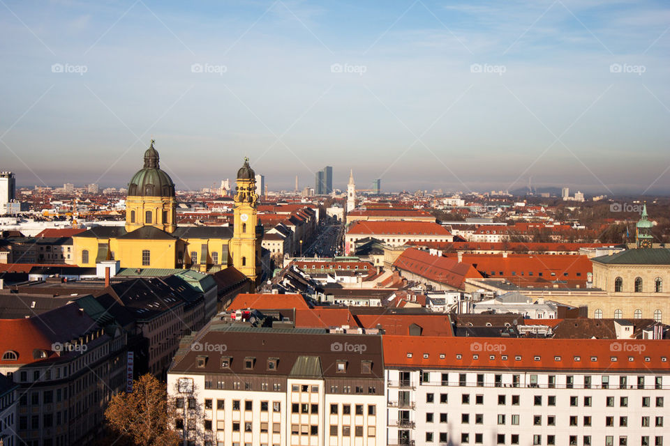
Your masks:
M 105 418 L 122 437 L 123 444 L 177 446 L 179 435 L 172 430 L 174 406 L 168 404 L 165 385 L 146 374 L 133 382 L 133 392 L 121 392 L 110 401 Z M 117 443 L 118 444 L 118 443 Z

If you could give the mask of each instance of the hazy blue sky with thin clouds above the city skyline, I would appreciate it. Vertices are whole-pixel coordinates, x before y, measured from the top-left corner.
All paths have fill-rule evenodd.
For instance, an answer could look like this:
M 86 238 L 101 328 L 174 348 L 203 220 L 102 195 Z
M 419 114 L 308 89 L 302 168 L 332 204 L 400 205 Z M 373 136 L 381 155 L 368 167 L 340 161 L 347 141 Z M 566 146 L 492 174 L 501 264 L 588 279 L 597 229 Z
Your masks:
M 0 170 L 670 194 L 664 1 L 0 0 Z

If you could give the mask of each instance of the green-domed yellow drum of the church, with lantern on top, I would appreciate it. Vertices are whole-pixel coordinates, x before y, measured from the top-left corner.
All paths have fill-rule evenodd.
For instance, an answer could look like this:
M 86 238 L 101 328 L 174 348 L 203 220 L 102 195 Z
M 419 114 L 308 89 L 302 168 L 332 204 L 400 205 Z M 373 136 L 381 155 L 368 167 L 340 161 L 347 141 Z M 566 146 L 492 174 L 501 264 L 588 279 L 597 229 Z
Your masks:
M 177 200 L 174 183 L 158 163 L 158 151 L 151 146 L 144 152 L 144 167 L 128 183 L 126 231 L 155 226 L 168 233 L 177 229 Z

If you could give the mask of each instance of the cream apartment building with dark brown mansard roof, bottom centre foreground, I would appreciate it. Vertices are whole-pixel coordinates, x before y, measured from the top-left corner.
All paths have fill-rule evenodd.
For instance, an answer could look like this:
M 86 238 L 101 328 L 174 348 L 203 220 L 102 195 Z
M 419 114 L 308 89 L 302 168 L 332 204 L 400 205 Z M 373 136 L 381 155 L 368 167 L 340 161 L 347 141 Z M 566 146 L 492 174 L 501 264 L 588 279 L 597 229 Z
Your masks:
M 168 394 L 184 445 L 386 444 L 376 335 L 213 322 L 185 339 Z

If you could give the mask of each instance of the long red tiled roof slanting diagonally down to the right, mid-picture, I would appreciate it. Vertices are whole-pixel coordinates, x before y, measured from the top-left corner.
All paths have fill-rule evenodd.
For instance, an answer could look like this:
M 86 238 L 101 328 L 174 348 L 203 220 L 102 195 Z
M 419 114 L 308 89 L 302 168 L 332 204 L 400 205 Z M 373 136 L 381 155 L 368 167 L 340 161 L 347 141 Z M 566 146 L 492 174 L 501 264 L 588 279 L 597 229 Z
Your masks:
M 456 259 L 442 256 L 432 256 L 428 252 L 415 248 L 405 249 L 393 266 L 456 289 L 463 289 L 465 279 L 482 277 L 468 263 L 459 263 Z

